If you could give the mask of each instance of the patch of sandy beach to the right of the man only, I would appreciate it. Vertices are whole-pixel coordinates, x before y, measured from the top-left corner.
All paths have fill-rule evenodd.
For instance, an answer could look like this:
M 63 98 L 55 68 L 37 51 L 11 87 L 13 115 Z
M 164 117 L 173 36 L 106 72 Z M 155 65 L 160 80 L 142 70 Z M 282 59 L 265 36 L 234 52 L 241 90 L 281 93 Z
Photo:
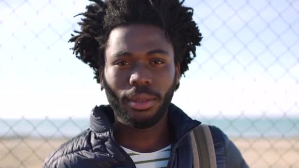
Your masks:
M 232 140 L 250 168 L 299 168 L 299 138 Z

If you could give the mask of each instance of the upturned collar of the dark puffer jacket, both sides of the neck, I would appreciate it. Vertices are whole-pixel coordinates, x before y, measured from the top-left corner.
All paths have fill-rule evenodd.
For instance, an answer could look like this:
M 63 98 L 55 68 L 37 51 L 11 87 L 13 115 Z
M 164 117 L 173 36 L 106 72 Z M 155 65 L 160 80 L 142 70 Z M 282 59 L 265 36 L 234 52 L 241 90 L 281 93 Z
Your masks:
M 169 124 L 174 134 L 175 141 L 188 133 L 192 128 L 201 122 L 191 119 L 186 113 L 176 105 L 169 106 Z M 90 130 L 96 133 L 107 132 L 114 122 L 114 112 L 109 105 L 96 106 L 90 115 Z

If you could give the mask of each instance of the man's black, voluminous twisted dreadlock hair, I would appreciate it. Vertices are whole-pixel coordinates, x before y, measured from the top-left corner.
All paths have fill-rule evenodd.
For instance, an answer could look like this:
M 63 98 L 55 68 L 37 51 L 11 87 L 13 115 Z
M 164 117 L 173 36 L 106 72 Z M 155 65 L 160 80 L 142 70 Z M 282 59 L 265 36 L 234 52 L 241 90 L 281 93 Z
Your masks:
M 87 63 L 100 83 L 105 65 L 105 47 L 113 28 L 129 24 L 147 24 L 161 28 L 174 47 L 175 63 L 180 63 L 180 76 L 196 56 L 202 34 L 193 21 L 193 9 L 182 5 L 184 0 L 90 0 L 86 12 L 69 42 L 73 54 Z M 78 16 L 76 15 L 76 16 Z M 179 88 L 179 84 L 176 89 Z M 101 88 L 103 90 L 103 88 Z

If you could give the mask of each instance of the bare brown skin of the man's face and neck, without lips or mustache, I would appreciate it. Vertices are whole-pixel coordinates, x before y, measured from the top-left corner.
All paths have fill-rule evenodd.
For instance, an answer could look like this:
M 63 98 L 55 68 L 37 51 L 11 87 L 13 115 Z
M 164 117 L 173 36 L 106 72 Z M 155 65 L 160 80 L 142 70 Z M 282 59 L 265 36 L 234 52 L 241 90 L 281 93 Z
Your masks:
M 161 28 L 140 24 L 114 28 L 105 59 L 104 78 L 120 100 L 133 87 L 143 85 L 159 93 L 163 100 L 172 84 L 179 83 L 180 66 L 175 64 L 173 46 Z M 144 121 L 154 116 L 162 100 L 155 99 L 152 107 L 141 111 L 132 109 L 126 102 L 120 103 L 134 120 Z M 146 129 L 126 124 L 115 112 L 113 131 L 120 145 L 137 152 L 154 152 L 171 142 L 168 110 L 155 125 Z

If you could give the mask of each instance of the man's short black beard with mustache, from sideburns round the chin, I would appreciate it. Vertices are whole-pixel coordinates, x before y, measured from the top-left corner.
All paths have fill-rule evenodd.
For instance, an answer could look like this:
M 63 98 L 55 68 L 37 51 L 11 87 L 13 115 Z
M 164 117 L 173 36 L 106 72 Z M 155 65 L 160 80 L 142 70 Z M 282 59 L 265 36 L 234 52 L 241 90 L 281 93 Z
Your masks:
M 176 80 L 175 80 L 176 75 L 177 74 L 175 74 L 175 78 L 173 80 L 172 85 L 170 86 L 170 88 L 168 89 L 168 91 L 164 96 L 162 96 L 161 94 L 155 91 L 150 90 L 148 86 L 136 86 L 129 93 L 121 96 L 120 98 L 107 84 L 107 81 L 104 77 L 103 84 L 104 84 L 106 96 L 111 108 L 114 111 L 114 114 L 117 116 L 116 118 L 120 118 L 123 124 L 137 129 L 146 129 L 157 124 L 160 121 L 160 119 L 164 116 L 166 111 L 168 110 L 168 107 L 170 106 L 171 100 L 176 90 Z M 126 112 L 121 105 L 121 102 L 126 101 L 129 96 L 140 94 L 140 93 L 147 93 L 153 95 L 157 97 L 157 101 L 162 102 L 161 105 L 158 107 L 157 111 L 154 112 L 152 116 L 144 119 L 134 118 L 132 115 Z

